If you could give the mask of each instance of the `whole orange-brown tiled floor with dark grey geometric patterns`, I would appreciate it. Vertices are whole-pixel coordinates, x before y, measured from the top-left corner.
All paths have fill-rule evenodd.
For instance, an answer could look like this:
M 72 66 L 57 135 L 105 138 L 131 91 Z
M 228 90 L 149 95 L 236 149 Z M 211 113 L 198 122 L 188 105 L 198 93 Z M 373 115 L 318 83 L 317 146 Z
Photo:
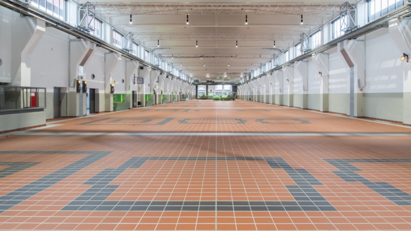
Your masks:
M 411 230 L 411 128 L 240 100 L 49 125 L 0 137 L 0 230 Z

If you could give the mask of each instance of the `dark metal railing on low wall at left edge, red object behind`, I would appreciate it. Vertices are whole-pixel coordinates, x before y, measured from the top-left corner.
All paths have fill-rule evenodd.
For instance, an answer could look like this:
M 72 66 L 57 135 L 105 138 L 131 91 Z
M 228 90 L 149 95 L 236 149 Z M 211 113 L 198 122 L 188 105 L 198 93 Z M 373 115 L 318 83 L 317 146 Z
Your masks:
M 0 86 L 0 112 L 46 108 L 46 88 Z

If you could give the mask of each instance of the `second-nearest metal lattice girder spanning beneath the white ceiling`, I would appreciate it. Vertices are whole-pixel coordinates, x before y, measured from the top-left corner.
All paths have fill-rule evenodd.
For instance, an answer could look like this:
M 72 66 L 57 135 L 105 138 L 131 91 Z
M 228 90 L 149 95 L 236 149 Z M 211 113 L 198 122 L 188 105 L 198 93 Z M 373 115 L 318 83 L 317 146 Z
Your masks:
M 133 33 L 140 41 L 155 40 L 241 40 L 241 41 L 290 41 L 300 39 L 301 33 Z

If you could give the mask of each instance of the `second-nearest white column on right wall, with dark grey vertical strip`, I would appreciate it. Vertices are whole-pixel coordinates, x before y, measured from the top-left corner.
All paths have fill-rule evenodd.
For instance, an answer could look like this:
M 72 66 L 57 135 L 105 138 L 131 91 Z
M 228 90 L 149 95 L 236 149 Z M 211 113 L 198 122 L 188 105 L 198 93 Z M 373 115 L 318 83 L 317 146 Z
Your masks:
M 365 116 L 365 42 L 345 40 L 338 44 L 338 53 L 349 68 L 350 117 Z

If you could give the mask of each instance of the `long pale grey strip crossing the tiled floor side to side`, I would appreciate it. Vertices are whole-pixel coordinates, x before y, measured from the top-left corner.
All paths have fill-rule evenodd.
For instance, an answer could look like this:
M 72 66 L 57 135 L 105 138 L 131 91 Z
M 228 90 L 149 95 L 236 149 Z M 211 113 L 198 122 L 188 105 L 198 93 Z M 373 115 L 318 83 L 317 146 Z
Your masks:
M 28 132 L 20 136 L 411 136 L 411 133 Z

